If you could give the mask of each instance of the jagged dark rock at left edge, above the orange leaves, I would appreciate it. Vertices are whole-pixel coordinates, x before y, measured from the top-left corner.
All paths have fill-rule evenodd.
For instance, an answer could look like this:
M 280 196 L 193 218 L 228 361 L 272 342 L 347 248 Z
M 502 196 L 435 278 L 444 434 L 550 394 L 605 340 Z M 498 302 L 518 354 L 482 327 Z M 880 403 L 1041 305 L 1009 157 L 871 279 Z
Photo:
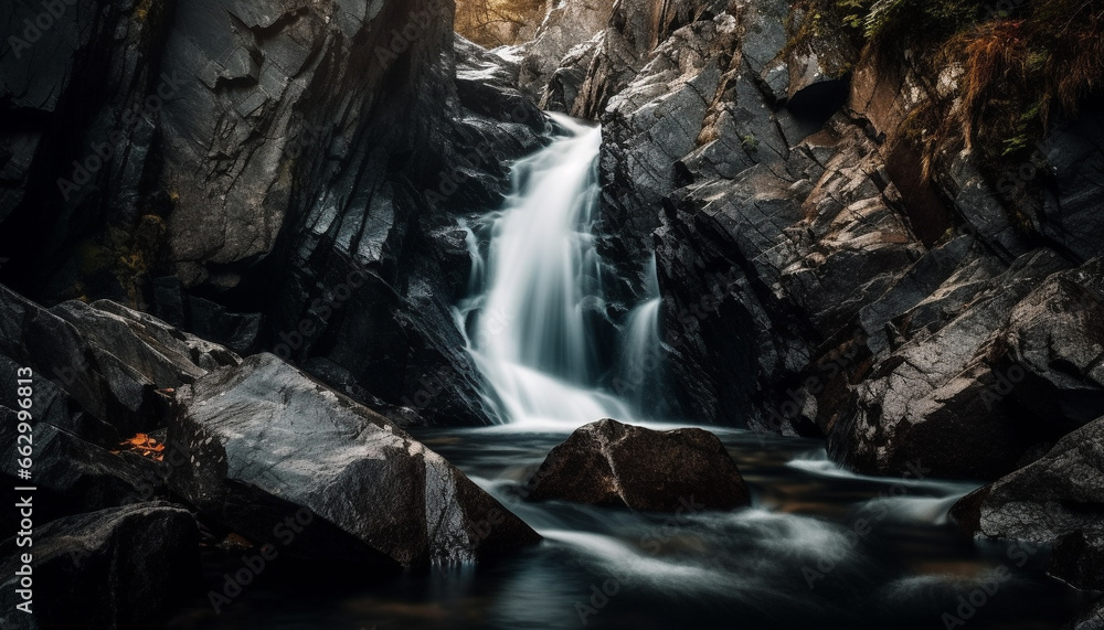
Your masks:
M 36 420 L 100 446 L 163 426 L 167 406 L 159 389 L 240 361 L 114 302 L 71 301 L 46 310 L 2 286 L 0 355 L 0 363 L 35 374 Z M 0 404 L 10 404 L 10 395 L 0 396 Z

